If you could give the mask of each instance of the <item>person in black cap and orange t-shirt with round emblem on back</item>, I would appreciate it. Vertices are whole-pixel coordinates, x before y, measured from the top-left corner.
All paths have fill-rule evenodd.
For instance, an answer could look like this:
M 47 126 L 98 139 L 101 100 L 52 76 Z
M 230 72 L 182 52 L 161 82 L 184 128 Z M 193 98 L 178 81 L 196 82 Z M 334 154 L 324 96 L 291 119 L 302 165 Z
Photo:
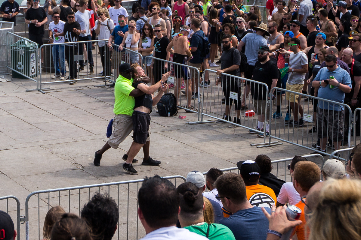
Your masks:
M 249 203 L 257 207 L 269 208 L 277 203 L 274 191 L 270 187 L 258 184 L 261 169 L 255 161 L 240 161 L 237 163 L 237 167 L 246 185 Z

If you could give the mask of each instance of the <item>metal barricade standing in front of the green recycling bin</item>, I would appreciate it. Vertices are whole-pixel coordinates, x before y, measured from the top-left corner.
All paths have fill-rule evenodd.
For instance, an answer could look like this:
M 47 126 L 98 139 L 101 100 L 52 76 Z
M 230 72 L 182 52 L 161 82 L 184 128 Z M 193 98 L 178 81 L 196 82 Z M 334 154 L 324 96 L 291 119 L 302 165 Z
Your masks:
M 13 72 L 13 76 L 30 79 L 36 82 L 36 89 L 26 91 L 43 92 L 39 85 L 38 44 L 12 32 L 6 33 L 6 68 Z M 43 92 L 44 93 L 44 92 Z

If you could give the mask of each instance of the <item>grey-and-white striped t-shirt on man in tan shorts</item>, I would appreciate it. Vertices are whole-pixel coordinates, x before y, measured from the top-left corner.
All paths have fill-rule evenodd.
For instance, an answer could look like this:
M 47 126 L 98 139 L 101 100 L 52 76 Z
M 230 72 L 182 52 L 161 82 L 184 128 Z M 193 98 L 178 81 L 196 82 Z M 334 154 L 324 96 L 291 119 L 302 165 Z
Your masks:
M 296 54 L 291 53 L 290 55 L 290 69 L 301 69 L 302 65 L 307 65 L 307 55 L 303 51 L 299 51 Z M 304 80 L 306 77 L 306 73 L 296 73 L 296 72 L 289 72 L 288 74 L 288 84 L 304 84 Z

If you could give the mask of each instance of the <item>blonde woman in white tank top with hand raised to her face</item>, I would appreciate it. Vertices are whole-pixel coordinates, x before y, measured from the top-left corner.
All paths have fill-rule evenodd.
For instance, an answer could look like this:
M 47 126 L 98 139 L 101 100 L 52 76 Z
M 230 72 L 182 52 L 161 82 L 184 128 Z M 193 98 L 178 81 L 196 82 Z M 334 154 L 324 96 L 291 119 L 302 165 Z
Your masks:
M 135 21 L 128 22 L 128 32 L 124 34 L 122 43 L 119 45 L 119 50 L 122 51 L 125 46 L 127 49 L 135 51 L 136 53 L 125 51 L 126 56 L 129 55 L 130 64 L 139 63 L 138 45 L 139 45 L 140 33 L 136 32 Z

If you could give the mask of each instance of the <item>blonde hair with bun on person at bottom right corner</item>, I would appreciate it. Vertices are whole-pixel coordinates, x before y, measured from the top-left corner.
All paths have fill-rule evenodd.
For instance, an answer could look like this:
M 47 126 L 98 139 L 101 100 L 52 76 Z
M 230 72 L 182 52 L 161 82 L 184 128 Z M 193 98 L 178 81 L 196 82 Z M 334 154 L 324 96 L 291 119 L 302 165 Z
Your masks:
M 309 240 L 361 239 L 361 182 L 325 181 L 308 225 Z

